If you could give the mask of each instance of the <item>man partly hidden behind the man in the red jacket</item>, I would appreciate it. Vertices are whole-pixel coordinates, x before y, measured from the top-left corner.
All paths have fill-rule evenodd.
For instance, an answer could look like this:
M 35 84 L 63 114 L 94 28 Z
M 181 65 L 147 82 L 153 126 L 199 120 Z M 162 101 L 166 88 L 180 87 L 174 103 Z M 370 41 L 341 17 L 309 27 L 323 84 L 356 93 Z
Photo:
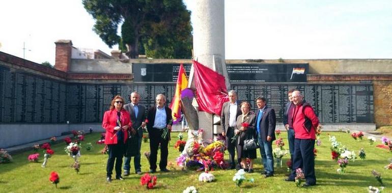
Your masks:
M 283 115 L 283 124 L 285 125 L 287 131 L 287 140 L 289 141 L 291 164 L 293 164 L 294 157 L 294 129 L 293 129 L 293 112 L 295 105 L 292 102 L 291 94 L 295 89 L 288 91 L 289 102 L 286 104 L 285 114 Z

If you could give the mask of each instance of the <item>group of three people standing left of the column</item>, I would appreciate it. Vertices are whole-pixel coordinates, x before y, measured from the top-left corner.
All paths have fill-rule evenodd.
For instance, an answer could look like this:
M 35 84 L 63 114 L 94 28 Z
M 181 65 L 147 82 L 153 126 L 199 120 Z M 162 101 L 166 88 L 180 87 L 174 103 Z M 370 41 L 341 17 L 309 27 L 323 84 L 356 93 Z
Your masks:
M 124 176 L 130 174 L 131 157 L 134 157 L 135 173 L 141 175 L 141 145 L 143 128 L 147 126 L 150 138 L 150 173 L 157 169 L 157 154 L 160 146 L 161 155 L 159 169 L 167 170 L 167 155 L 169 150 L 170 132 L 167 137 L 162 137 L 165 129 L 171 130 L 172 110 L 165 107 L 166 97 L 163 94 L 156 96 L 156 105 L 145 111 L 145 107 L 139 105 L 140 95 L 134 91 L 130 95 L 131 103 L 124 105 L 124 99 L 117 95 L 110 103 L 110 108 L 103 115 L 102 127 L 106 130 L 105 144 L 108 147 L 108 159 L 106 164 L 106 181 L 111 181 L 113 168 L 116 171 L 116 179 L 123 180 L 121 167 L 124 157 Z M 147 117 L 147 119 L 146 119 Z M 147 121 L 148 120 L 148 121 Z M 116 164 L 115 164 L 116 163 Z

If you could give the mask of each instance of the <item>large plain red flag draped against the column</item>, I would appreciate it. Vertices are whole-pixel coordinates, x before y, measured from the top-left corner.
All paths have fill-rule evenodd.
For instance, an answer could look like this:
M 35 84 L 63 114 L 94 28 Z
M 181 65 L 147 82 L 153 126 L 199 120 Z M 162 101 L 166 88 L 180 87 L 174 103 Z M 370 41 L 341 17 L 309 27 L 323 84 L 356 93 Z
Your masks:
M 225 77 L 198 61 L 192 60 L 192 63 L 199 111 L 220 116 L 223 103 L 229 101 Z

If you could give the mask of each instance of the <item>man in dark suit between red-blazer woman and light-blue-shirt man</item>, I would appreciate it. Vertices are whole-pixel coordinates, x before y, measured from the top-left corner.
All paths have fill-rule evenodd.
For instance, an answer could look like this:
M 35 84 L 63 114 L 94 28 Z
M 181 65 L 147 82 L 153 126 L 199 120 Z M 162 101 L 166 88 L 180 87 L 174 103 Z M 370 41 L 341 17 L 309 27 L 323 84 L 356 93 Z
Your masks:
M 132 121 L 132 129 L 134 133 L 129 133 L 132 139 L 127 140 L 127 151 L 124 160 L 124 176 L 129 175 L 131 156 L 134 156 L 135 173 L 141 175 L 142 169 L 140 165 L 140 149 L 142 147 L 143 128 L 146 126 L 144 119 L 146 118 L 146 110 L 143 106 L 139 105 L 140 94 L 136 91 L 131 93 L 131 103 L 124 105 L 124 109 L 128 111 L 130 120 Z M 131 152 L 135 153 L 131 153 Z

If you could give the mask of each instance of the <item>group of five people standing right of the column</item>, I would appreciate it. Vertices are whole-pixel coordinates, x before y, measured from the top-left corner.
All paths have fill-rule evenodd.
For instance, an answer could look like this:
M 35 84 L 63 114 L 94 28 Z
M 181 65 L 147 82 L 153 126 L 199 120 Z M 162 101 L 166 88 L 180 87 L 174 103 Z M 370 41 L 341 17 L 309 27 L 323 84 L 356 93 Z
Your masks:
M 257 112 L 250 111 L 247 102 L 237 101 L 235 90 L 229 91 L 229 101 L 221 111 L 222 136 L 226 136 L 230 169 L 244 169 L 253 173 L 256 149 L 244 150 L 245 140 L 255 139 L 259 145 L 264 172 L 268 178 L 274 175 L 272 142 L 275 138 L 276 116 L 273 108 L 267 106 L 264 97 L 256 98 Z M 319 119 L 312 106 L 306 103 L 300 91 L 288 92 L 289 102 L 283 117 L 287 130 L 291 156 L 291 173 L 286 181 L 295 181 L 296 170 L 302 169 L 306 182 L 303 186 L 316 185 L 314 145 L 316 131 L 321 129 Z M 245 124 L 244 124 L 245 123 Z M 237 150 L 237 163 L 235 151 Z M 246 163 L 249 159 L 249 163 Z

